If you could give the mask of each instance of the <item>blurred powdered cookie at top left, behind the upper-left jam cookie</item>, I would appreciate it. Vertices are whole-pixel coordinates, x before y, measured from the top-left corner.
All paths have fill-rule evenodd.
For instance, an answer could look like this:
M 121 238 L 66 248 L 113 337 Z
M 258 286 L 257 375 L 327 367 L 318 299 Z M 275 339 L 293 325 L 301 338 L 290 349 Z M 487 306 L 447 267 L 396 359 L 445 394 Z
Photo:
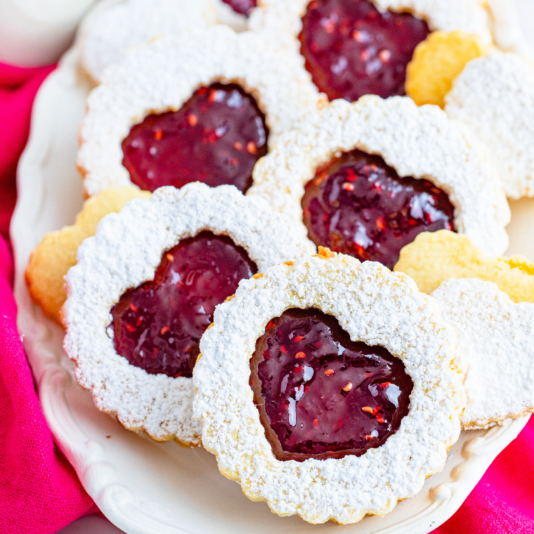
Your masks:
M 178 34 L 216 23 L 211 0 L 126 0 L 98 13 L 80 39 L 82 66 L 95 82 L 107 67 L 136 46 L 163 34 Z

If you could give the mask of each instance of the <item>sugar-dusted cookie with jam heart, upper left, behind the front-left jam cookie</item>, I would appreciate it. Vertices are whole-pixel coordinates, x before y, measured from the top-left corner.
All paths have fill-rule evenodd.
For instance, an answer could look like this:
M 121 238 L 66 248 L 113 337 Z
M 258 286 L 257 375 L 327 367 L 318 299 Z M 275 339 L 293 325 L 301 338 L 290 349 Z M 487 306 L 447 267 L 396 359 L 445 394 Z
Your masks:
M 84 190 L 201 181 L 245 192 L 256 161 L 321 101 L 306 73 L 250 32 L 156 39 L 89 96 L 77 159 Z

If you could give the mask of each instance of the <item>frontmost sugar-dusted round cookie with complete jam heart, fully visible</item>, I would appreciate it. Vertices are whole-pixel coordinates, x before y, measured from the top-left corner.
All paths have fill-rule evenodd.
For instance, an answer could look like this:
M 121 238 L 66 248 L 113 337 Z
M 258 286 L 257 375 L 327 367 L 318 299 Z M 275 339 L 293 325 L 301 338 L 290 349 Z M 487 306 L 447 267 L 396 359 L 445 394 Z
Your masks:
M 245 280 L 200 351 L 202 444 L 281 516 L 383 516 L 443 469 L 460 434 L 455 332 L 378 263 L 320 249 Z

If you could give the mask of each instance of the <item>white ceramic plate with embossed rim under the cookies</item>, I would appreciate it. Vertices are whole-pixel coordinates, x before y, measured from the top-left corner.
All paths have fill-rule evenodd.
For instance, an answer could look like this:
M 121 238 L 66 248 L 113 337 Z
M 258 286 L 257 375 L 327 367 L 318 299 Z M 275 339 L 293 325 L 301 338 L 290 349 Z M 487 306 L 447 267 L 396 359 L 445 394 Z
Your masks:
M 280 518 L 265 503 L 249 501 L 240 486 L 219 474 L 209 452 L 155 443 L 98 412 L 91 394 L 73 379 L 73 365 L 62 349 L 63 330 L 32 304 L 24 282 L 32 249 L 45 233 L 71 224 L 82 206 L 74 159 L 88 91 L 73 49 L 41 87 L 34 105 L 30 142 L 18 169 L 11 236 L 18 325 L 45 417 L 105 516 L 129 534 L 423 534 L 446 521 L 528 418 L 487 431 L 462 432 L 444 471 L 386 517 L 368 516 L 349 526 L 313 526 L 297 517 Z M 512 213 L 508 254 L 534 260 L 534 200 L 514 202 Z

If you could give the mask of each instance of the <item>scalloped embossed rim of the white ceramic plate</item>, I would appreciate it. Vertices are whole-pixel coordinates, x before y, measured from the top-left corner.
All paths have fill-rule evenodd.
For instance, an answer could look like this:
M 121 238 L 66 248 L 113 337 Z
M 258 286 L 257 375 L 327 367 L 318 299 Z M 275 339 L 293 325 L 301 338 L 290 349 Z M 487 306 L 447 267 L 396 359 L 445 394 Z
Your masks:
M 30 252 L 37 245 L 34 225 L 44 202 L 43 167 L 52 150 L 51 133 L 46 126 L 53 124 L 60 90 L 68 90 L 77 84 L 78 76 L 77 48 L 74 45 L 61 60 L 58 70 L 46 79 L 37 93 L 32 110 L 30 141 L 18 166 L 18 201 L 11 221 L 18 327 L 38 384 L 39 399 L 48 425 L 60 449 L 77 472 L 82 486 L 100 510 L 112 523 L 129 534 L 186 534 L 185 530 L 162 518 L 167 515 L 164 510 L 156 516 L 156 512 L 150 512 L 145 506 L 146 500 L 138 499 L 131 488 L 117 483 L 116 468 L 106 460 L 103 443 L 86 436 L 75 422 L 66 396 L 73 379 L 72 365 L 60 350 L 63 330 L 46 319 L 32 303 L 25 285 L 24 271 Z M 469 437 L 469 431 L 462 431 L 462 448 L 448 460 L 457 461 L 450 473 L 450 480 L 429 489 L 429 506 L 400 523 L 374 532 L 424 534 L 437 528 L 456 512 L 495 457 L 523 429 L 528 418 L 515 419 L 504 426 L 493 426 L 483 436 Z M 416 499 L 417 496 L 412 498 Z M 391 513 L 395 514 L 395 510 Z M 358 524 L 354 526 L 355 532 Z

